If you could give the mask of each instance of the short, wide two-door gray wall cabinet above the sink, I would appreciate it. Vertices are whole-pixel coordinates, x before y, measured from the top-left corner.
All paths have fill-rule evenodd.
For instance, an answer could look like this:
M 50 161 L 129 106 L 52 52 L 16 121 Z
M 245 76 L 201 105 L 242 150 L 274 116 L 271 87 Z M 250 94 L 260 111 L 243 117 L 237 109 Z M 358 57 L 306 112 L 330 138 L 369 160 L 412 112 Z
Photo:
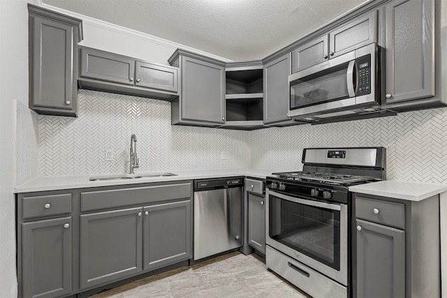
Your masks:
M 178 69 L 81 47 L 81 88 L 161 100 L 178 95 Z

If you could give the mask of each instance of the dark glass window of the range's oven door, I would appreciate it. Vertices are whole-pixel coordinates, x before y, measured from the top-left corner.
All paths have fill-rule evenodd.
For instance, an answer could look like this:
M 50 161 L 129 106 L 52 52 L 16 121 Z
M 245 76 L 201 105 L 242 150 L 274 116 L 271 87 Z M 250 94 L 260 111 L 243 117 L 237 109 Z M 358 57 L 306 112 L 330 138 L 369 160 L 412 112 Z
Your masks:
M 270 195 L 268 232 L 271 239 L 340 269 L 340 211 Z

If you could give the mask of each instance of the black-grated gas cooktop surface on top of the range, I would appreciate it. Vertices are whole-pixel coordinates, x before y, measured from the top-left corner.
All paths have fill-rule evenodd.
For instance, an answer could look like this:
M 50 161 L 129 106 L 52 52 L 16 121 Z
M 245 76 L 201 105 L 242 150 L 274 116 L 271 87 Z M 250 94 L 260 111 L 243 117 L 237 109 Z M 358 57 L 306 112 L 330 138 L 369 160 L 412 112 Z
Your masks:
M 279 176 L 279 179 L 293 181 L 309 181 L 321 184 L 351 186 L 353 184 L 361 184 L 367 181 L 373 181 L 375 178 L 371 176 L 355 176 L 351 174 L 339 174 L 328 172 L 277 172 L 272 175 Z

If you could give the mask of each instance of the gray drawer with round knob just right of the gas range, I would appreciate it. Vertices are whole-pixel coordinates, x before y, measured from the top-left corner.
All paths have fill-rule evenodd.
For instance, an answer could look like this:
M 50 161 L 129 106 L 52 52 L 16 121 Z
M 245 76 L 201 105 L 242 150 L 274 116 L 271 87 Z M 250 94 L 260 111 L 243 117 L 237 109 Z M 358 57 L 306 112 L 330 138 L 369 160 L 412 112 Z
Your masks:
M 356 218 L 404 229 L 405 205 L 356 197 Z

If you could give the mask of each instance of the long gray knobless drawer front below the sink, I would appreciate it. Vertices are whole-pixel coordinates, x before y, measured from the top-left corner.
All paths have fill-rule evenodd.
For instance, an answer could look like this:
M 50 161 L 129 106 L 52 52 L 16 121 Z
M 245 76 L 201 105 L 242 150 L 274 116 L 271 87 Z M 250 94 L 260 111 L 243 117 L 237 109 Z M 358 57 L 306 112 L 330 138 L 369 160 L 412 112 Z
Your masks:
M 191 198 L 191 183 L 81 193 L 81 211 Z

